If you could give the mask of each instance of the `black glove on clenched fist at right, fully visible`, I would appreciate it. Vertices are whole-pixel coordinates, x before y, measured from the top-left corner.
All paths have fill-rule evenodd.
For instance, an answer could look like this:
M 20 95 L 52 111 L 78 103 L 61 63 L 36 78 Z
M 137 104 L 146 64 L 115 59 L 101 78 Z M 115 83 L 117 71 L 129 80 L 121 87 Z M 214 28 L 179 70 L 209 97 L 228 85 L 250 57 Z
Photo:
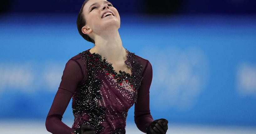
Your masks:
M 147 127 L 147 134 L 166 134 L 167 124 L 168 121 L 166 119 L 154 120 Z

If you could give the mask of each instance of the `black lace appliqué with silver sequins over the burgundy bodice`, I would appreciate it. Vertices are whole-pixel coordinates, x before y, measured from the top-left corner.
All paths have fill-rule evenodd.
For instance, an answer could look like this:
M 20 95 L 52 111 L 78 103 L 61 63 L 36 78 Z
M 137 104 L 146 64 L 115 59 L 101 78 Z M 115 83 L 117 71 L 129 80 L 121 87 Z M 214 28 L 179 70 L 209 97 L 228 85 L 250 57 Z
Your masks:
M 97 72 L 104 72 L 106 75 L 112 75 L 120 85 L 122 85 L 123 82 L 129 82 L 134 92 L 134 103 L 137 100 L 138 88 L 140 87 L 140 82 L 142 80 L 142 76 L 140 75 L 142 65 L 135 59 L 135 54 L 126 49 L 127 60 L 125 61 L 125 64 L 130 67 L 132 74 L 121 70 L 118 73 L 113 70 L 112 64 L 107 62 L 105 57 L 102 60 L 101 55 L 96 53 L 91 54 L 89 50 L 80 53 L 88 70 L 88 79 L 80 90 L 72 97 L 73 114 L 75 121 L 78 121 L 74 128 L 79 128 L 81 124 L 90 124 L 96 128 L 96 134 L 98 134 L 104 130 L 102 122 L 104 122 L 106 117 L 106 107 L 99 105 L 99 102 L 102 101 L 100 90 L 102 79 L 97 76 Z M 121 112 L 124 120 L 126 120 L 128 110 Z M 88 120 L 83 118 L 85 114 L 88 115 Z M 125 129 L 117 126 L 117 128 L 112 131 L 112 134 L 117 133 L 124 134 Z

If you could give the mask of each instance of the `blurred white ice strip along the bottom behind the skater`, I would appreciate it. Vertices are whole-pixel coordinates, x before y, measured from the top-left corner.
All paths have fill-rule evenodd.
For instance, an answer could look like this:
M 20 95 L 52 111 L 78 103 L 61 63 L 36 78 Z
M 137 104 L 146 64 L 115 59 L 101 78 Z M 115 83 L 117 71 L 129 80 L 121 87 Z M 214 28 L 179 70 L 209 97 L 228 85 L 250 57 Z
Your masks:
M 72 123 L 66 123 L 71 126 Z M 0 121 L 1 134 L 50 134 L 43 121 Z M 136 125 L 128 122 L 126 134 L 143 134 Z M 256 134 L 256 127 L 222 127 L 203 125 L 168 124 L 166 134 Z

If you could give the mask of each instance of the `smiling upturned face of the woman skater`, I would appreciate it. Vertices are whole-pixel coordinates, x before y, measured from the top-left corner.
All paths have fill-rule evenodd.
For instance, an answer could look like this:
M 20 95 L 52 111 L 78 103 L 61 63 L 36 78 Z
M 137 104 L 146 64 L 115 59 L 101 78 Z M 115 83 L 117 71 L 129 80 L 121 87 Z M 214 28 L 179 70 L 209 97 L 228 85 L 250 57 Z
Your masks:
M 120 16 L 115 7 L 107 0 L 89 0 L 84 8 L 83 15 L 86 27 L 95 33 L 111 27 L 120 28 Z

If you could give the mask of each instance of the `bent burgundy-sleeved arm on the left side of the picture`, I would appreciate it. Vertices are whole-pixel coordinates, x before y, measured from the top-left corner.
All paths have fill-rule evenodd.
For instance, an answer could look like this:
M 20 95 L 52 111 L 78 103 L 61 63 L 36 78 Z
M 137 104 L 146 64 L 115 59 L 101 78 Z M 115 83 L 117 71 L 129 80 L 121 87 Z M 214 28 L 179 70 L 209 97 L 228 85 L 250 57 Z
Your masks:
M 60 87 L 54 97 L 52 106 L 47 115 L 45 127 L 53 134 L 71 134 L 73 129 L 65 125 L 61 119 L 77 85 L 82 81 L 83 73 L 80 65 L 69 60 L 61 77 Z

